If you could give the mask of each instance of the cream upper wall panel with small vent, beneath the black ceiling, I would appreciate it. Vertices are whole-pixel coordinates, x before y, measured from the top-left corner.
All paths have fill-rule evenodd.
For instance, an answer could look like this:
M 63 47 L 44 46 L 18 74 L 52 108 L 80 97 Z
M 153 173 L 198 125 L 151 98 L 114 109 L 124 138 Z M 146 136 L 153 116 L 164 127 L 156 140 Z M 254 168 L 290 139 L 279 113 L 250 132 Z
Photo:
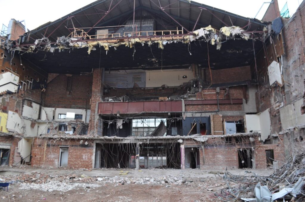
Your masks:
M 186 75 L 187 78 L 182 78 Z M 177 70 L 149 70 L 146 71 L 146 88 L 167 86 L 179 86 L 193 79 L 191 69 Z

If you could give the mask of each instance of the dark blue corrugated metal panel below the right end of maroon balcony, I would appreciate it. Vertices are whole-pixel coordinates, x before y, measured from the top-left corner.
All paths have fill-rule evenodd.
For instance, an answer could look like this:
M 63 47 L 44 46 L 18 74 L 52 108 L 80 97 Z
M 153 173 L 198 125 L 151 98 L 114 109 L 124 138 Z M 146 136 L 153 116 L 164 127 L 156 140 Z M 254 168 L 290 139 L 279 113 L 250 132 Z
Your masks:
M 182 135 L 187 135 L 192 128 L 192 124 L 196 123 L 197 133 L 200 134 L 200 124 L 206 124 L 206 134 L 211 134 L 210 117 L 186 117 L 182 119 Z

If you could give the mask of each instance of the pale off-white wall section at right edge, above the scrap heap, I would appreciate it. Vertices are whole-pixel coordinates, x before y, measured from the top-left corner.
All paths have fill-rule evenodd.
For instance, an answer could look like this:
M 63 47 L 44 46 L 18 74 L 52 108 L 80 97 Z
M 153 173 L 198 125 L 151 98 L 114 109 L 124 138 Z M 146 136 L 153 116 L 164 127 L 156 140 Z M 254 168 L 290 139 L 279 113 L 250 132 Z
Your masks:
M 302 105 L 303 99 L 300 99 L 280 109 L 281 123 L 284 130 L 305 123 L 305 114 L 301 114 Z

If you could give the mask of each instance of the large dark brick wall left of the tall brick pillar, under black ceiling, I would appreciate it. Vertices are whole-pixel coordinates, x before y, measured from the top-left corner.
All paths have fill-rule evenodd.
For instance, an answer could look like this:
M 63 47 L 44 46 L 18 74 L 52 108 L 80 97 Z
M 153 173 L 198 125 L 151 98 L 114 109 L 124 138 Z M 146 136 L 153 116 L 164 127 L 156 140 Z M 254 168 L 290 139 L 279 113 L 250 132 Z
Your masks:
M 89 109 L 92 75 L 58 75 L 42 93 L 44 107 Z

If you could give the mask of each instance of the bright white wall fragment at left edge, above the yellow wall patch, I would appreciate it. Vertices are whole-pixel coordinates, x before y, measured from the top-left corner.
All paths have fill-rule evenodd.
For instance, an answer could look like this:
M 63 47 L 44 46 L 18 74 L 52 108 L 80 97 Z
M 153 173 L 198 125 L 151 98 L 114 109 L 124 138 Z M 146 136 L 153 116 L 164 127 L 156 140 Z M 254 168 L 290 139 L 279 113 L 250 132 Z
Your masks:
M 9 82 L 12 82 L 16 85 L 14 85 L 12 83 L 6 84 Z M 9 71 L 0 74 L 0 92 L 4 92 L 6 90 L 9 90 L 11 92 L 17 92 L 18 82 L 19 82 L 19 76 L 15 75 Z M 4 85 L 4 84 L 6 84 L 6 85 Z M 3 85 L 3 86 L 1 86 L 1 85 Z

